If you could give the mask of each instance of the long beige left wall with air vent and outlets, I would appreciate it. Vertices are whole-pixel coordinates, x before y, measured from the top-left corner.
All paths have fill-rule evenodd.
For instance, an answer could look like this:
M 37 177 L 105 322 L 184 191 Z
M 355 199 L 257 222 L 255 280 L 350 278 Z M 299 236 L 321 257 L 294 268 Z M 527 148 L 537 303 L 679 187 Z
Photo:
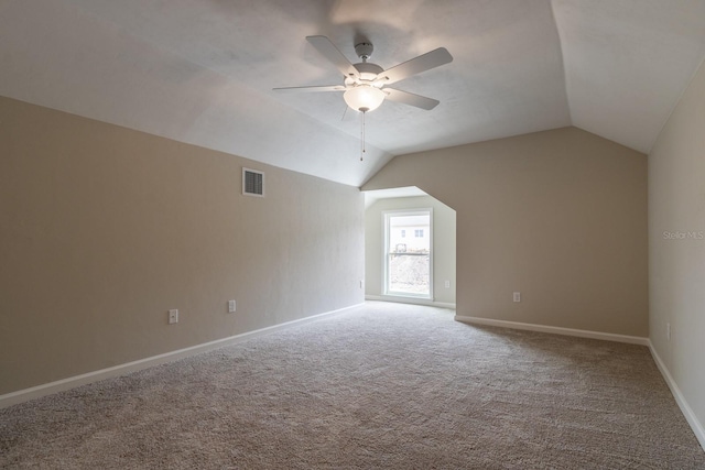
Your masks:
M 0 124 L 0 394 L 364 300 L 358 188 L 6 98 Z

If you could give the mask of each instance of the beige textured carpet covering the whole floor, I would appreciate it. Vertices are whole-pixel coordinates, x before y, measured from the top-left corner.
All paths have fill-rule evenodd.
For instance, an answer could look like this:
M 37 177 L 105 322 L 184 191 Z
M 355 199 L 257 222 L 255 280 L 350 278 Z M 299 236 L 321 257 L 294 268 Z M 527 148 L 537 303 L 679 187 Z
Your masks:
M 355 311 L 0 409 L 0 468 L 705 469 L 646 347 Z

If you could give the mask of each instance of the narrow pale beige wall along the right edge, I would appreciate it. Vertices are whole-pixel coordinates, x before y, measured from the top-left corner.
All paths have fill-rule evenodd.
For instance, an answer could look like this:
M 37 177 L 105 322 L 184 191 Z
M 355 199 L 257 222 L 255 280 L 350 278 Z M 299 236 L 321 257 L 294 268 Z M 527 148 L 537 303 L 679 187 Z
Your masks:
M 649 155 L 649 298 L 651 342 L 705 444 L 705 66 Z

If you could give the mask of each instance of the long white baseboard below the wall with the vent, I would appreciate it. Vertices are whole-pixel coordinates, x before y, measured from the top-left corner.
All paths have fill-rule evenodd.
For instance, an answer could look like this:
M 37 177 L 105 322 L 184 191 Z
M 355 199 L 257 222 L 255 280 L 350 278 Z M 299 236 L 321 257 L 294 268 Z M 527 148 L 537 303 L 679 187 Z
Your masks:
M 322 319 L 323 317 L 328 317 L 330 315 L 341 314 L 354 308 L 360 307 L 365 304 L 351 305 L 349 307 L 339 308 L 337 310 L 326 311 L 318 315 L 313 315 L 306 318 L 300 318 L 297 320 L 286 321 L 279 325 L 273 325 L 271 327 L 257 329 L 253 331 L 247 331 L 240 335 L 231 336 L 228 338 L 218 339 L 215 341 L 205 342 L 202 345 L 192 346 L 184 349 L 178 349 L 175 351 L 166 352 L 159 356 L 152 356 L 151 358 L 144 358 L 132 362 L 127 362 L 124 364 L 115 365 L 107 369 L 101 369 L 94 372 L 88 372 L 80 375 L 70 376 L 67 379 L 57 380 L 55 382 L 50 382 L 46 384 L 33 386 L 30 389 L 19 390 L 17 392 L 7 393 L 4 395 L 0 395 L 0 408 L 6 408 L 8 406 L 17 405 L 19 403 L 28 402 L 30 400 L 39 398 L 41 396 L 51 395 L 53 393 L 62 392 L 69 389 L 75 389 L 80 385 L 86 385 L 93 382 L 97 382 L 105 379 L 110 379 L 119 375 L 124 375 L 130 372 L 137 372 L 142 369 L 151 368 L 154 365 L 163 364 L 166 362 L 176 361 L 178 359 L 187 358 L 189 356 L 199 354 L 202 352 L 210 351 L 214 349 L 223 348 L 225 346 L 236 345 L 238 342 L 246 341 L 248 339 L 252 339 L 259 336 L 264 336 L 272 334 L 274 331 L 279 331 L 285 328 L 290 328 L 293 326 L 303 325 L 310 321 L 316 321 Z

